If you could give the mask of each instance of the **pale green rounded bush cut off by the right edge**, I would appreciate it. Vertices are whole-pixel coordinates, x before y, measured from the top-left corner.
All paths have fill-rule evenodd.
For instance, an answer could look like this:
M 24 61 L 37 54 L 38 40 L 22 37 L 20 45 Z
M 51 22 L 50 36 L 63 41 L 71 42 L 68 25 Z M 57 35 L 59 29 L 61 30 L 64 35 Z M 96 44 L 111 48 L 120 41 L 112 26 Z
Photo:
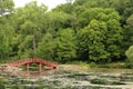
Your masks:
M 133 46 L 131 46 L 126 51 L 125 56 L 129 59 L 129 63 L 133 67 Z

